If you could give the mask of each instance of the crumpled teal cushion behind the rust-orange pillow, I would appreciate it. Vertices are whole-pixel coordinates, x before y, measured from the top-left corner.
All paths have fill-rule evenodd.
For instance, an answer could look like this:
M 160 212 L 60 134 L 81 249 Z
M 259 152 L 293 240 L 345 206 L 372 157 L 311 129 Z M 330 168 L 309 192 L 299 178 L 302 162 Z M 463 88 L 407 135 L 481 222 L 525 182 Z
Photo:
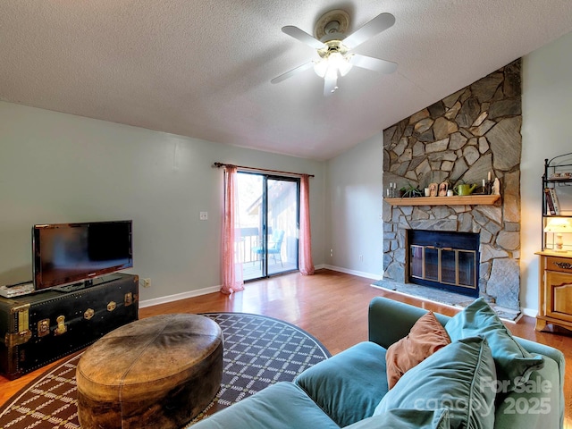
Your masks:
M 499 380 L 508 383 L 507 391 L 526 383 L 530 374 L 544 365 L 543 357 L 528 353 L 482 298 L 451 317 L 445 329 L 451 341 L 483 335 L 491 347 Z

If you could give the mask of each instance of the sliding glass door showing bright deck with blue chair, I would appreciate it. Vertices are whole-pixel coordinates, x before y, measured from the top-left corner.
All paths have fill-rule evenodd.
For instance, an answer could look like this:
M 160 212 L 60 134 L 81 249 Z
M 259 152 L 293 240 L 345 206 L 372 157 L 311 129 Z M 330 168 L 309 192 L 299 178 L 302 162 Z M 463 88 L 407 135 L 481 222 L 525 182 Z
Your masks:
M 243 279 L 298 270 L 299 179 L 239 172 L 237 188 Z

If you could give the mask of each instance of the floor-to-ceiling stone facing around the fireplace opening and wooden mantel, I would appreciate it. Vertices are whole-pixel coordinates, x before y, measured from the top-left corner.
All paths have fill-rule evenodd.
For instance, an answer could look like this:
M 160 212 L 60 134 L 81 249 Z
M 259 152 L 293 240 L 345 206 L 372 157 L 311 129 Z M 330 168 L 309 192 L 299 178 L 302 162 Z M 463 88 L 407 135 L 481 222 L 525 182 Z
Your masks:
M 383 202 L 383 280 L 409 282 L 408 231 L 478 234 L 475 296 L 519 310 L 521 60 L 383 130 L 383 188 L 501 182 L 494 205 Z M 448 246 L 449 247 L 449 246 Z M 462 255 L 466 257 L 466 255 Z

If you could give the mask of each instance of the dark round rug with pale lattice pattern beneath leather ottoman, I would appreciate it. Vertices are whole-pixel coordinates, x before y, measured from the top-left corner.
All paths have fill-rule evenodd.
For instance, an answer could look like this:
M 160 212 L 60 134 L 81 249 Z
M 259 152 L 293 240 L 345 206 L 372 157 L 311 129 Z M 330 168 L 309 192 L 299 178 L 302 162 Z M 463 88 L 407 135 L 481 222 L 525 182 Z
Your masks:
M 308 367 L 331 356 L 307 332 L 272 317 L 205 315 L 223 330 L 223 381 L 214 400 L 189 426 L 270 384 L 291 382 Z M 0 408 L 0 429 L 80 429 L 75 385 L 80 357 L 71 356 L 8 400 Z

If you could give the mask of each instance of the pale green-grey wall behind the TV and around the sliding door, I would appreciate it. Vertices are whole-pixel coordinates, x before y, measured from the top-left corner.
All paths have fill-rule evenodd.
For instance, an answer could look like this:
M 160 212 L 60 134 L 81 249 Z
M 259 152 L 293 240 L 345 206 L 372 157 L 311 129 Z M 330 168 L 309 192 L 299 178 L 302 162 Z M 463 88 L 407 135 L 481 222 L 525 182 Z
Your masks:
M 218 286 L 216 161 L 315 174 L 313 257 L 324 264 L 323 162 L 0 102 L 0 284 L 31 279 L 34 223 L 133 219 L 130 272 L 152 281 L 142 300 Z

